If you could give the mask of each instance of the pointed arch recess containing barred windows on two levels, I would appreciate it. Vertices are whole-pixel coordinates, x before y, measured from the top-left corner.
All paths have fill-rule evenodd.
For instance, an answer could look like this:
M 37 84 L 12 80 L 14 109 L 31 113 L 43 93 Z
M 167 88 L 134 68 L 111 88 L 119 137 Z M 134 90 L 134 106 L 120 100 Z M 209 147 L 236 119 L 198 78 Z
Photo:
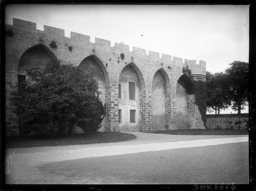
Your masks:
M 135 131 L 141 124 L 141 106 L 145 104 L 143 97 L 146 97 L 146 93 L 144 77 L 133 62 L 121 68 L 118 93 L 119 120 L 122 119 L 119 129 L 124 132 Z

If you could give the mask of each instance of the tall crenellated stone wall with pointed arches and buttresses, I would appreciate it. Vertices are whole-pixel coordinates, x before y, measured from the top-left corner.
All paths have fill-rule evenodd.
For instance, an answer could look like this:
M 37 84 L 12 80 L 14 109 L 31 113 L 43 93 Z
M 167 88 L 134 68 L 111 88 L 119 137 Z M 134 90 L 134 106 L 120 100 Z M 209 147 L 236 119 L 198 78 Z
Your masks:
M 10 99 L 12 97 L 11 92 L 17 89 L 18 67 L 20 68 L 23 62 L 32 63 L 29 59 L 32 61 L 36 58 L 30 56 L 27 59 L 27 53 L 39 54 L 40 56 L 37 59 L 42 60 L 42 62 L 38 62 L 39 65 L 44 65 L 45 61 L 50 59 L 49 61 L 60 64 L 80 65 L 80 67 L 84 65 L 84 69 L 90 71 L 96 71 L 97 68 L 98 71 L 95 74 L 98 77 L 96 75 L 95 78 L 98 78 L 100 82 L 101 98 L 107 103 L 107 114 L 105 122 L 103 122 L 105 124 L 101 130 L 141 131 L 152 129 L 152 106 L 155 107 L 158 104 L 153 103 L 152 105 L 152 102 L 156 101 L 156 99 L 152 99 L 152 94 L 154 96 L 152 83 L 155 83 L 153 77 L 157 71 L 161 71 L 161 75 L 164 76 L 166 81 L 165 108 L 162 107 L 163 97 L 160 101 L 162 113 L 165 109 L 163 114 L 165 117 L 162 115 L 157 118 L 164 119 L 164 123 L 160 125 L 161 128 L 175 129 L 176 104 L 184 101 L 176 99 L 176 85 L 183 74 L 182 67 L 188 65 L 192 75 L 194 74 L 198 80 L 204 80 L 205 62 L 201 60 L 199 64 L 196 64 L 195 60 L 184 59 L 183 62 L 182 58 L 165 54 L 160 57 L 159 53 L 153 51 L 149 51 L 146 54 L 146 50 L 136 47 L 132 47 L 132 51 L 130 51 L 129 46 L 123 43 L 115 43 L 115 46 L 111 47 L 110 41 L 99 38 L 95 38 L 95 43 L 92 43 L 90 42 L 90 36 L 75 32 L 71 32 L 69 38 L 64 36 L 63 29 L 44 26 L 44 31 L 40 31 L 36 30 L 36 23 L 15 18 L 13 18 L 13 25 L 6 24 L 5 27 L 13 31 L 12 37 L 5 36 L 6 135 L 19 134 L 18 117 L 12 111 L 13 103 L 10 102 Z M 56 42 L 57 48 L 49 46 L 52 41 Z M 69 46 L 73 47 L 72 51 L 68 49 Z M 40 51 L 38 52 L 38 50 Z M 121 53 L 124 53 L 124 59 L 120 57 Z M 121 104 L 124 105 L 122 100 L 119 103 L 118 83 L 120 74 L 127 65 L 131 66 L 132 71 L 138 76 L 140 87 L 139 90 L 136 90 L 137 94 L 139 94 L 139 97 L 137 95 L 136 103 L 125 104 L 134 105 L 134 107 L 136 105 L 138 120 L 137 125 L 127 123 L 123 127 L 119 125 L 118 117 L 119 104 L 120 107 Z M 163 88 L 163 83 L 161 84 Z M 127 99 L 126 101 L 129 102 Z M 127 115 L 124 116 L 123 120 L 128 120 Z M 186 121 L 187 119 L 185 118 L 184 120 Z M 187 128 L 186 123 L 183 126 Z M 191 123 L 189 128 L 195 128 L 195 123 Z

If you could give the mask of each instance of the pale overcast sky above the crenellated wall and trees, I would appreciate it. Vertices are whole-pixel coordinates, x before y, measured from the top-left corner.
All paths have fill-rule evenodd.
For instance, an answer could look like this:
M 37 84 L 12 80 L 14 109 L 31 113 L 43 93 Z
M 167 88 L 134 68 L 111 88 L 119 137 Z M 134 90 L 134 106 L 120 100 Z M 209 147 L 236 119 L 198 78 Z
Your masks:
M 98 37 L 147 54 L 204 60 L 211 73 L 249 60 L 249 5 L 10 4 L 5 17 L 6 24 L 18 18 L 35 22 L 39 30 L 62 28 L 67 37 L 73 31 L 91 36 L 91 42 Z

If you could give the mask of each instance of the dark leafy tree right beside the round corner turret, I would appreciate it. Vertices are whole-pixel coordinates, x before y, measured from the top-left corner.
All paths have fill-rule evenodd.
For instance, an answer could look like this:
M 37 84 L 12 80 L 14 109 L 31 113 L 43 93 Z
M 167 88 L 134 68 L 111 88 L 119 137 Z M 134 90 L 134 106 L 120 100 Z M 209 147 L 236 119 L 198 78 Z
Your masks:
M 220 110 L 225 110 L 231 105 L 226 85 L 226 75 L 221 73 L 211 74 L 206 72 L 207 86 L 207 111 L 220 114 Z

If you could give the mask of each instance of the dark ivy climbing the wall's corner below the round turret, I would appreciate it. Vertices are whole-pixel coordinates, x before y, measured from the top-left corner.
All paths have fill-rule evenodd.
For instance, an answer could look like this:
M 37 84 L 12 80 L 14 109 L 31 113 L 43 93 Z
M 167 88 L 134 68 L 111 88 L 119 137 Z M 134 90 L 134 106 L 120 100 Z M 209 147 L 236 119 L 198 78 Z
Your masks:
M 185 88 L 187 94 L 195 95 L 195 103 L 201 114 L 204 126 L 206 127 L 206 83 L 205 81 L 193 80 L 191 70 L 183 66 L 182 72 L 185 74 L 179 80 L 180 85 Z

